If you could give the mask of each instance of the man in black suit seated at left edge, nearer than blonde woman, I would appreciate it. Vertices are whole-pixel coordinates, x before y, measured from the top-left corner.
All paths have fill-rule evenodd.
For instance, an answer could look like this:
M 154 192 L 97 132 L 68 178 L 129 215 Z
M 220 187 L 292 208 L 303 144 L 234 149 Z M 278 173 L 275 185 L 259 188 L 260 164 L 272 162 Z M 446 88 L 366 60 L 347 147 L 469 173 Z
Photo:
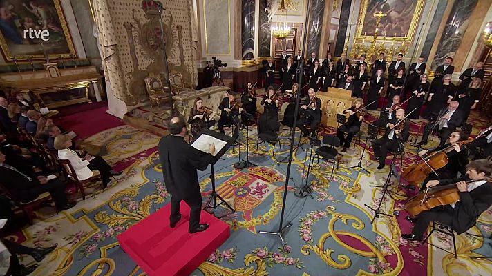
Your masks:
M 5 163 L 5 155 L 0 151 L 0 182 L 21 202 L 36 199 L 42 193 L 49 192 L 57 210 L 66 210 L 75 206 L 66 199 L 65 184 L 59 179 L 48 180 L 43 175 L 34 175 Z

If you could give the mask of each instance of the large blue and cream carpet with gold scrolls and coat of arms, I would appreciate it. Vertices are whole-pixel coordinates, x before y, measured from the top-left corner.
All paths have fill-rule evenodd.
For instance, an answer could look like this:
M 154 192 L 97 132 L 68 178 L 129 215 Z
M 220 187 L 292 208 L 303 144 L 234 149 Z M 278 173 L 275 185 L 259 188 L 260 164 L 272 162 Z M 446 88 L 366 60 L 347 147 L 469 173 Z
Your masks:
M 474 126 L 484 124 L 480 119 Z M 123 130 L 124 127 L 113 128 L 100 133 L 97 139 L 88 140 L 91 144 L 100 142 L 102 152 L 106 152 L 104 158 L 111 162 L 138 156 L 115 184 L 104 193 L 79 202 L 68 212 L 23 229 L 18 237 L 20 242 L 26 240 L 27 245 L 59 243 L 33 275 L 144 275 L 120 249 L 116 235 L 168 204 L 170 197 L 162 183 L 158 154 L 152 148 L 155 142 L 152 145 L 143 141 L 157 141 L 157 138 L 140 137 L 138 131 Z M 115 133 L 124 134 L 113 141 Z M 288 131 L 283 132 L 283 137 L 288 135 Z M 245 130 L 240 139 L 245 141 Z M 333 177 L 330 177 L 331 164 L 314 159 L 308 178 L 314 198 L 294 196 L 294 188 L 306 183 L 304 164 L 309 157 L 309 152 L 296 149 L 285 207 L 284 221 L 293 224 L 285 233 L 288 246 L 283 248 L 277 237 L 259 234 L 258 230 L 278 229 L 287 171 L 287 160 L 281 160 L 288 154 L 287 144 L 289 141 L 283 139 L 282 150 L 278 146 L 275 152 L 271 146 L 256 150 L 256 134 L 250 132 L 249 161 L 259 166 L 235 170 L 232 164 L 238 161 L 238 148 L 229 150 L 224 160 L 214 166 L 217 190 L 237 212 L 231 214 L 221 207 L 215 211 L 216 216 L 231 226 L 231 237 L 192 275 L 492 274 L 491 261 L 471 259 L 492 255 L 492 246 L 486 239 L 460 235 L 457 237 L 459 258 L 454 259 L 443 250 L 400 239 L 401 233 L 410 230 L 404 211 L 399 217 L 381 216 L 371 224 L 373 213 L 364 204 L 377 206 L 381 189 L 369 185 L 383 184 L 389 168 L 375 170 L 377 163 L 370 161 L 370 152 L 362 161 L 370 174 L 349 170 L 348 167 L 359 161 L 363 150 L 360 145 L 347 150 Z M 122 152 L 122 145 L 129 145 L 132 152 Z M 303 147 L 306 149 L 308 145 Z M 406 151 L 404 164 L 411 163 L 415 148 L 408 146 Z M 241 148 L 241 158 L 245 158 L 245 148 Z M 209 169 L 199 172 L 199 177 L 206 202 L 211 189 Z M 392 182 L 395 181 L 393 177 Z M 385 197 L 382 210 L 388 214 L 401 210 L 399 199 L 404 197 L 396 196 L 396 201 Z M 489 237 L 491 223 L 492 210 L 489 210 L 469 233 Z M 448 237 L 434 234 L 431 240 L 442 247 L 452 247 Z M 32 259 L 25 257 L 22 262 L 29 263 Z

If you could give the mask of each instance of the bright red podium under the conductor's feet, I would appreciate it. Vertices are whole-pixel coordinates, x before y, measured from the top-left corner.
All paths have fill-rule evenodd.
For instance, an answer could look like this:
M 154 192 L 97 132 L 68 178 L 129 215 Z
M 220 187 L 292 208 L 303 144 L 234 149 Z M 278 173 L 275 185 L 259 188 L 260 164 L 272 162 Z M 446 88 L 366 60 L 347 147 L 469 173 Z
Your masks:
M 169 227 L 167 204 L 117 236 L 120 246 L 149 275 L 190 275 L 229 238 L 229 226 L 202 210 L 200 223 L 210 227 L 189 234 L 189 206 L 181 202 L 181 220 Z

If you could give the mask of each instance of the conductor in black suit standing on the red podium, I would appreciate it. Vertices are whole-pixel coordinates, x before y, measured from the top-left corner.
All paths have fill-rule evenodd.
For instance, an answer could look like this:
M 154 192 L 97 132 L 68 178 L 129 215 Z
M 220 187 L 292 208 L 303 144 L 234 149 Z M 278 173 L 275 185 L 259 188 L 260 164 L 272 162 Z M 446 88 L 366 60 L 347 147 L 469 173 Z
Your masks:
M 169 226 L 174 228 L 181 219 L 180 203 L 184 200 L 190 207 L 188 232 L 202 232 L 209 224 L 200 224 L 202 194 L 196 170 L 205 170 L 214 161 L 215 146 L 210 144 L 210 153 L 205 153 L 188 144 L 185 141 L 186 120 L 181 116 L 171 118 L 167 130 L 170 135 L 159 141 L 159 157 L 164 183 L 171 193 Z

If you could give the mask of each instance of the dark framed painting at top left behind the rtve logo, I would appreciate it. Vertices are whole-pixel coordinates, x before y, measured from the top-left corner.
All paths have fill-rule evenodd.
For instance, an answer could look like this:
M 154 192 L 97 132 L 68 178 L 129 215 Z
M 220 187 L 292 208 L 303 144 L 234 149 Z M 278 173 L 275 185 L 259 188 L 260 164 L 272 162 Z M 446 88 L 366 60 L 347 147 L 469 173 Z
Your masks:
M 60 0 L 0 0 L 0 47 L 5 61 L 76 55 Z

